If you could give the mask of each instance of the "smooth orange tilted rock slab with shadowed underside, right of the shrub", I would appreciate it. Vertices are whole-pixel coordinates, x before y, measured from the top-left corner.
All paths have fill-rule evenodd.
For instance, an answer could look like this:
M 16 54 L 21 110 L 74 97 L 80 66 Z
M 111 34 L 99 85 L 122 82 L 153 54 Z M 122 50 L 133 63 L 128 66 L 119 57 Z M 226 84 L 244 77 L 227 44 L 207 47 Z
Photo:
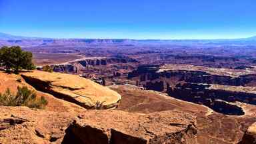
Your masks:
M 78 75 L 33 71 L 21 76 L 37 90 L 87 109 L 117 107 L 121 100 L 117 92 Z

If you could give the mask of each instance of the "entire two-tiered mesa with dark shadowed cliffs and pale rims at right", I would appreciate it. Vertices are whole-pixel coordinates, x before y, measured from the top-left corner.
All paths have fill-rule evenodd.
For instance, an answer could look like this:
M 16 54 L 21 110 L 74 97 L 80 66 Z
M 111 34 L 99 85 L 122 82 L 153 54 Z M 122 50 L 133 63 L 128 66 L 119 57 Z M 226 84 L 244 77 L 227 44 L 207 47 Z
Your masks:
M 145 89 L 165 92 L 171 97 L 210 107 L 225 115 L 244 115 L 234 103 L 256 105 L 254 69 L 234 70 L 192 65 L 142 65 L 128 78 Z M 234 73 L 236 72 L 236 73 Z M 247 87 L 244 87 L 247 86 Z

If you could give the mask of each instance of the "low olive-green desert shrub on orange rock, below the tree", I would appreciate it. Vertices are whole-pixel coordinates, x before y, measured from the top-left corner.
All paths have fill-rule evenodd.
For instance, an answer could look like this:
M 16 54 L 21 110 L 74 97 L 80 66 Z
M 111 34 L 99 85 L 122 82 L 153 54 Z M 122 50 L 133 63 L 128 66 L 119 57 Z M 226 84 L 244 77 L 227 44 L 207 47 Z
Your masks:
M 45 97 L 38 99 L 35 91 L 31 91 L 27 87 L 17 87 L 17 89 L 16 95 L 13 95 L 10 89 L 0 94 L 0 105 L 27 106 L 30 108 L 43 109 L 48 103 Z

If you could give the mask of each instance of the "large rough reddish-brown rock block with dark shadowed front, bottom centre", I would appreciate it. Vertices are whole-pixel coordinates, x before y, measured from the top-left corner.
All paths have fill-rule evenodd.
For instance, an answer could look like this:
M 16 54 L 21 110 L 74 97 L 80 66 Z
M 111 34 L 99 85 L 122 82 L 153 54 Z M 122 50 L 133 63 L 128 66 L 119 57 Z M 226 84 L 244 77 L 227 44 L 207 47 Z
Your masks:
M 87 111 L 67 129 L 65 143 L 197 143 L 195 117 L 178 111 L 141 114 L 124 111 Z M 68 136 L 67 136 L 68 137 Z M 70 140 L 69 140 L 70 139 Z

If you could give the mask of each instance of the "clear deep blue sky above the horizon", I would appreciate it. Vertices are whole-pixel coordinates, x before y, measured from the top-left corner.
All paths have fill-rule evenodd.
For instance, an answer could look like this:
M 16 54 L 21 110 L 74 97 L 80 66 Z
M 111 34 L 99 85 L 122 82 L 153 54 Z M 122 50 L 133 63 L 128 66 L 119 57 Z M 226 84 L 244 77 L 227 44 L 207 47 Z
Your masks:
M 256 35 L 256 0 L 0 0 L 0 32 L 57 38 Z

